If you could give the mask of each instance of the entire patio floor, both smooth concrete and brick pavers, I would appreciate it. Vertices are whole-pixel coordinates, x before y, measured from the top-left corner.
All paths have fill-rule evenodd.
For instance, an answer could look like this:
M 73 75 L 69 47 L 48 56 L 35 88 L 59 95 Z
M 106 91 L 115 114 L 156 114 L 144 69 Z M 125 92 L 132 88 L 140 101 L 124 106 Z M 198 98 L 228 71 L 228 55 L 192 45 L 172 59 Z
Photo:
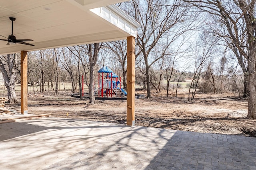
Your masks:
M 256 138 L 42 118 L 0 124 L 2 170 L 256 169 Z

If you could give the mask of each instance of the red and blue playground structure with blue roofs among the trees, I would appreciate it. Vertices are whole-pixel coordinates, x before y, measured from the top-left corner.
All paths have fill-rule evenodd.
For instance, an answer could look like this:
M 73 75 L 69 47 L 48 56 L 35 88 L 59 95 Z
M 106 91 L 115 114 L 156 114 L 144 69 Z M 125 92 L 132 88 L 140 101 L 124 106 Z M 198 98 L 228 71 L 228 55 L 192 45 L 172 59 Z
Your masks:
M 121 86 L 121 77 L 118 77 L 107 66 L 98 70 L 98 85 L 94 86 L 94 91 L 98 91 L 98 97 L 101 98 L 124 98 L 127 96 L 127 92 Z

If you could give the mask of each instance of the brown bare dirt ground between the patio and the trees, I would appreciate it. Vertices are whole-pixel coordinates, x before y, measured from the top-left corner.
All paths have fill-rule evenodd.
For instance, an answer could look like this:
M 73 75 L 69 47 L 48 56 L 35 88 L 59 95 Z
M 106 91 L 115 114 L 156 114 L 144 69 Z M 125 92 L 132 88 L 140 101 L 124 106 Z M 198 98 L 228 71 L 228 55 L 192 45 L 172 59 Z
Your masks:
M 146 91 L 136 93 L 146 94 Z M 186 93 L 178 94 L 178 98 L 173 95 L 166 98 L 165 95 L 166 92 L 152 92 L 152 99 L 136 99 L 135 124 L 181 131 L 254 136 L 250 132 L 256 131 L 256 120 L 245 119 L 247 100 L 238 99 L 233 94 L 196 94 L 194 101 L 188 102 Z M 126 124 L 126 100 L 96 100 L 94 105 L 88 103 L 88 99 L 80 100 L 70 94 L 34 94 L 29 96 L 28 112 Z M 20 111 L 20 104 L 8 107 Z

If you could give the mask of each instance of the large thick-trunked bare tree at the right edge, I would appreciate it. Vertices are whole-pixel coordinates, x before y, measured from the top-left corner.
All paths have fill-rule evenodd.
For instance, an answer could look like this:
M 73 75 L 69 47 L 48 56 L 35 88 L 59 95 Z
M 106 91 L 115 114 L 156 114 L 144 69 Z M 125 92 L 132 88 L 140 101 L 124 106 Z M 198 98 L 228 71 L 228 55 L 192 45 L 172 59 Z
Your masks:
M 204 12 L 214 15 L 225 25 L 228 38 L 240 54 L 238 62 L 247 65 L 248 72 L 248 114 L 246 118 L 256 119 L 256 0 L 183 0 Z M 242 60 L 244 57 L 245 60 Z M 245 74 L 245 77 L 247 76 Z

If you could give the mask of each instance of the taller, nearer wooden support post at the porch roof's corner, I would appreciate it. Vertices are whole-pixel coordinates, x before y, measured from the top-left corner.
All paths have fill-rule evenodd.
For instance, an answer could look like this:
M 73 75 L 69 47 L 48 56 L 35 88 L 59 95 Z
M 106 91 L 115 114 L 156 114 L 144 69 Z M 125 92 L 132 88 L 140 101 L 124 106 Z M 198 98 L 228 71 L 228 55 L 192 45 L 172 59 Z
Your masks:
M 135 124 L 135 38 L 127 37 L 127 125 Z

